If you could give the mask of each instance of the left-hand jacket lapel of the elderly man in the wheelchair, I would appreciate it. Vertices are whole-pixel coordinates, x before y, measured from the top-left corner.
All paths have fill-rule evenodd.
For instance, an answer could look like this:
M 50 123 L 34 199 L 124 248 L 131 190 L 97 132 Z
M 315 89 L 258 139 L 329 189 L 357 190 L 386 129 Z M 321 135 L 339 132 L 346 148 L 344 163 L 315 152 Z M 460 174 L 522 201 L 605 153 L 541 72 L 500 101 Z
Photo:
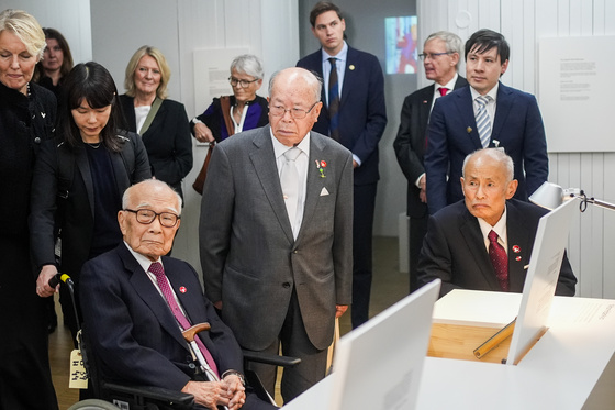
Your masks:
M 179 325 L 175 319 L 167 302 L 163 299 L 147 274 L 143 272 L 141 265 L 136 262 L 125 245 L 119 247 L 119 254 L 124 263 L 124 268 L 131 273 L 130 282 L 135 292 L 152 309 L 156 318 L 160 321 L 160 325 L 170 334 L 179 344 L 188 350 L 188 344 L 183 340 Z

